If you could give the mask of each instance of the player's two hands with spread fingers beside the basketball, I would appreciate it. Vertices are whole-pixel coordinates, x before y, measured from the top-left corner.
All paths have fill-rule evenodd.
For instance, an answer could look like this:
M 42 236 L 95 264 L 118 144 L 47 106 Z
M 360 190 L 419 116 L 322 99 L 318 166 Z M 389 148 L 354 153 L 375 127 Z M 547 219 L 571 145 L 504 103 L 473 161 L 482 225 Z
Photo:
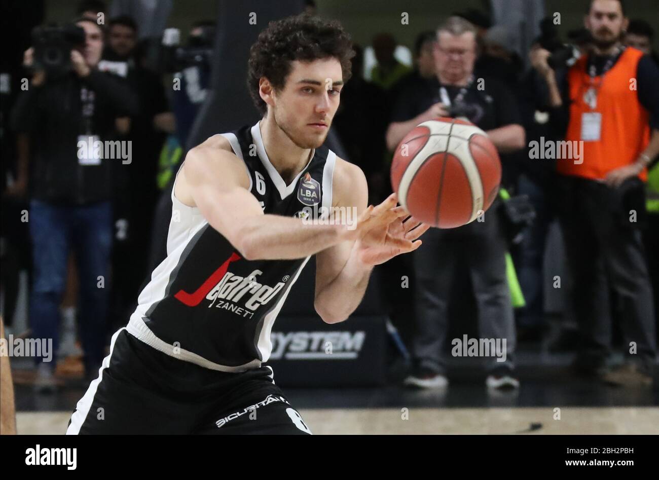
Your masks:
M 393 193 L 378 206 L 369 206 L 357 220 L 355 247 L 365 264 L 378 265 L 401 253 L 415 251 L 430 225 L 422 224 L 402 206 Z M 403 222 L 403 218 L 407 218 Z

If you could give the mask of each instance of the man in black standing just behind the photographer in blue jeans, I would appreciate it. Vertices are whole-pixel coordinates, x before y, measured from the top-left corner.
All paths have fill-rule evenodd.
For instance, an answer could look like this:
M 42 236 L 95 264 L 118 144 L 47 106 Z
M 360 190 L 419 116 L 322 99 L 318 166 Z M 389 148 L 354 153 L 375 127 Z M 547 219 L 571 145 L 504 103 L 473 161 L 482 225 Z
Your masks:
M 138 26 L 129 16 L 111 18 L 107 45 L 99 69 L 115 72 L 137 94 L 138 112 L 130 117 L 125 140 L 132 142 L 133 160 L 123 169 L 127 195 L 115 204 L 115 245 L 112 253 L 110 318 L 122 320 L 135 309 L 140 285 L 148 273 L 148 251 L 154 210 L 158 202 L 158 158 L 167 138 L 175 131 L 162 76 L 142 66 Z M 113 329 L 119 324 L 111 324 Z

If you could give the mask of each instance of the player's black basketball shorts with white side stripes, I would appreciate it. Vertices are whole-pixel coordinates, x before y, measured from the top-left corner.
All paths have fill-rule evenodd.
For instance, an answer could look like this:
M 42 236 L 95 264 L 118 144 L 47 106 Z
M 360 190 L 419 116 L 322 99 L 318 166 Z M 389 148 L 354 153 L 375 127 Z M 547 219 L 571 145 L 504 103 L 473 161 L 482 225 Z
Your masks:
M 270 367 L 224 373 L 182 361 L 122 328 L 78 401 L 67 435 L 295 434 L 310 430 Z

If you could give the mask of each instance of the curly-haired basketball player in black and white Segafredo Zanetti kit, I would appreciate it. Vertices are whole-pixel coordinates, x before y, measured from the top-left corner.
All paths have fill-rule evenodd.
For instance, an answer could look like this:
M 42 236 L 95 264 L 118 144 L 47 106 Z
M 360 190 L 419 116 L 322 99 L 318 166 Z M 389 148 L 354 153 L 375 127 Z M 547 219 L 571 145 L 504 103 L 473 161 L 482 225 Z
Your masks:
M 316 311 L 341 322 L 373 266 L 417 249 L 428 229 L 403 222 L 394 195 L 366 208 L 364 173 L 322 146 L 352 55 L 341 26 L 320 18 L 260 34 L 248 86 L 263 118 L 188 152 L 167 258 L 67 433 L 310 433 L 263 365 L 293 282 L 316 255 Z M 357 222 L 312 224 L 326 219 L 320 207 L 355 207 Z

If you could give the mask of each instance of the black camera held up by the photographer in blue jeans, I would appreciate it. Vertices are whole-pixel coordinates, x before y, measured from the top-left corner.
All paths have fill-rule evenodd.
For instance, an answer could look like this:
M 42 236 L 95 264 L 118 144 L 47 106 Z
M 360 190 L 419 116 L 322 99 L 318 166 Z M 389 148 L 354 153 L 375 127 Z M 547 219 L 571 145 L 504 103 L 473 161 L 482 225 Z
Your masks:
M 34 69 L 51 78 L 71 71 L 71 50 L 85 44 L 84 29 L 74 24 L 37 26 L 32 30 Z

